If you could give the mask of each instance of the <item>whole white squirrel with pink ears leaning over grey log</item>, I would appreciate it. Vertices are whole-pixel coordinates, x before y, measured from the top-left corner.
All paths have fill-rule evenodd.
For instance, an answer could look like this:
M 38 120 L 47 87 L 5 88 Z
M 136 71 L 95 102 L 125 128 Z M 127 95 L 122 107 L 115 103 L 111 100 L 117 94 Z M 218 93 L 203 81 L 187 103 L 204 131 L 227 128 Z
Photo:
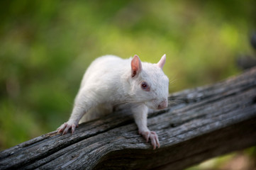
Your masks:
M 138 55 L 123 60 L 113 55 L 99 57 L 84 74 L 79 92 L 74 100 L 72 114 L 57 128 L 57 132 L 73 133 L 79 120 L 91 120 L 111 113 L 121 103 L 131 103 L 131 111 L 138 125 L 138 132 L 153 148 L 160 147 L 158 136 L 147 127 L 148 108 L 154 110 L 168 105 L 169 79 L 162 71 L 166 57 L 157 64 L 140 62 Z

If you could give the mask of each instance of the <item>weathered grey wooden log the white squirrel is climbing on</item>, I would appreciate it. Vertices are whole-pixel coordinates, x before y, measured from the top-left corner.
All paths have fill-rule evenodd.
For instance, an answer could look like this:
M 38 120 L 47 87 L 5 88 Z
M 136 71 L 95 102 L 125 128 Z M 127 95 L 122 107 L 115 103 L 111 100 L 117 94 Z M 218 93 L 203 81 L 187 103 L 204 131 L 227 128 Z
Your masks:
M 127 111 L 50 132 L 0 152 L 0 169 L 184 169 L 256 145 L 256 68 L 210 86 L 169 96 L 149 114 L 161 147 L 152 149 Z

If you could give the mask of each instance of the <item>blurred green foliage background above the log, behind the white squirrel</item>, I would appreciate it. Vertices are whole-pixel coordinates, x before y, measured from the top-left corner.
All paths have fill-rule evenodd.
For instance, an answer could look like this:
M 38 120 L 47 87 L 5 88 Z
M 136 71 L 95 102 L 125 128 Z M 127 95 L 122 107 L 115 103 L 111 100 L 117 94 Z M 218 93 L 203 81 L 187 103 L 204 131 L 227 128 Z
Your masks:
M 238 74 L 255 55 L 255 0 L 1 1 L 0 149 L 69 118 L 85 69 L 101 55 L 157 62 L 170 92 Z

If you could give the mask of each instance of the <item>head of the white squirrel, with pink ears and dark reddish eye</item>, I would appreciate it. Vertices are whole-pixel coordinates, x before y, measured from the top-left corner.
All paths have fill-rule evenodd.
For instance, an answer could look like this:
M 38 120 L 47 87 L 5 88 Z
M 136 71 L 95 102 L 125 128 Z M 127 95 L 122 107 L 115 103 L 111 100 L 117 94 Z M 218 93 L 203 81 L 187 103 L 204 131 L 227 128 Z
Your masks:
M 169 79 L 162 71 L 166 55 L 157 64 L 140 62 L 138 55 L 130 62 L 130 96 L 134 101 L 143 101 L 146 106 L 156 109 L 166 108 L 168 104 Z

